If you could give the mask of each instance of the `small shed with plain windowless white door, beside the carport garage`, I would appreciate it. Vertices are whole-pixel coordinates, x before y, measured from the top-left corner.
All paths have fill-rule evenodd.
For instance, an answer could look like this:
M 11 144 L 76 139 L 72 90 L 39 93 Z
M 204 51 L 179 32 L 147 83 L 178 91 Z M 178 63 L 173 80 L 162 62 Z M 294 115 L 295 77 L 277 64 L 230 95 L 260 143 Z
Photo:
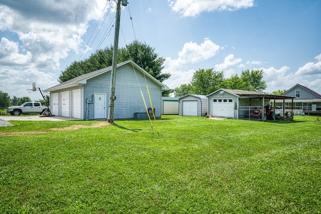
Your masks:
M 207 97 L 205 95 L 188 94 L 179 99 L 180 116 L 206 116 Z

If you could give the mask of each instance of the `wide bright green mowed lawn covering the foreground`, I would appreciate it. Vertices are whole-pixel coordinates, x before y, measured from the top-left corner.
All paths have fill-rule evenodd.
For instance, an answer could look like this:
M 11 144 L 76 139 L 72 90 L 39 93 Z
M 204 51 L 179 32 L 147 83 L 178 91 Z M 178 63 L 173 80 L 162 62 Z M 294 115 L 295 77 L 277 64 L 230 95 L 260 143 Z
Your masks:
M 320 213 L 321 121 L 0 127 L 0 213 Z

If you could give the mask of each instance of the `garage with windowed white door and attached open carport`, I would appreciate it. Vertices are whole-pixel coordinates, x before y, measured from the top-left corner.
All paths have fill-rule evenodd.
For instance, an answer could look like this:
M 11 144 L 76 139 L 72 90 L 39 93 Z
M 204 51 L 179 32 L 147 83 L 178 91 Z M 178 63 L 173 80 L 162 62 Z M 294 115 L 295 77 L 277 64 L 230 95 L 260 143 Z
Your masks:
M 208 114 L 211 116 L 265 120 L 264 111 L 270 101 L 293 99 L 294 97 L 222 88 L 207 95 L 207 98 Z M 285 112 L 282 113 L 283 117 L 284 114 Z

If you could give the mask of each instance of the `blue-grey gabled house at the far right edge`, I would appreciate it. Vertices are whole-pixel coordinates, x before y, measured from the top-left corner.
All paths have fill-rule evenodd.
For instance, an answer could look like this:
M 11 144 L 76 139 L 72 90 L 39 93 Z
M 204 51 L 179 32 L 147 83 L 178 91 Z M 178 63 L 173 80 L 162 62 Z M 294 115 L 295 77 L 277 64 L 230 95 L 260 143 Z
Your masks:
M 292 88 L 287 90 L 284 96 L 293 96 L 293 109 L 301 110 L 304 114 L 312 115 L 318 114 L 321 115 L 321 95 L 315 91 L 302 86 L 300 84 L 294 85 Z M 281 100 L 276 101 L 276 106 L 278 108 L 285 109 L 291 107 L 291 100 L 285 100 L 284 105 Z

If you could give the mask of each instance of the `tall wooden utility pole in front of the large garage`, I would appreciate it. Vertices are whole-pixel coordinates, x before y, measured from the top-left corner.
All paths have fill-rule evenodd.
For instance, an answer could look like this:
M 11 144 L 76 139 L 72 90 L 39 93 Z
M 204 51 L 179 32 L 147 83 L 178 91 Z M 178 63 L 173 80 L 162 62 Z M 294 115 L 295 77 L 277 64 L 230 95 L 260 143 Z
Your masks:
M 118 53 L 118 37 L 119 37 L 119 22 L 120 22 L 120 2 L 122 6 L 127 6 L 127 0 L 117 0 L 116 11 L 116 27 L 114 38 L 114 49 L 112 52 L 112 65 L 111 65 L 111 77 L 110 77 L 110 95 L 109 95 L 109 109 L 108 109 L 108 122 L 114 122 L 114 103 L 116 100 L 115 86 L 116 86 L 116 67 L 117 67 L 117 53 Z

